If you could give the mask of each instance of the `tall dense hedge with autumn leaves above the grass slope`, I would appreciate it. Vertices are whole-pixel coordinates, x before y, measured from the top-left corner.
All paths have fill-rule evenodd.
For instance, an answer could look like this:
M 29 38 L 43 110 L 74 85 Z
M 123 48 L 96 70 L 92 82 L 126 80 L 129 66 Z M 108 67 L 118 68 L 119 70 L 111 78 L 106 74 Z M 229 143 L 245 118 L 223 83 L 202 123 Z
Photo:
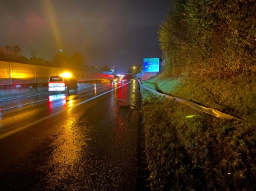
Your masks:
M 230 77 L 255 73 L 255 0 L 172 0 L 160 25 L 172 74 Z

